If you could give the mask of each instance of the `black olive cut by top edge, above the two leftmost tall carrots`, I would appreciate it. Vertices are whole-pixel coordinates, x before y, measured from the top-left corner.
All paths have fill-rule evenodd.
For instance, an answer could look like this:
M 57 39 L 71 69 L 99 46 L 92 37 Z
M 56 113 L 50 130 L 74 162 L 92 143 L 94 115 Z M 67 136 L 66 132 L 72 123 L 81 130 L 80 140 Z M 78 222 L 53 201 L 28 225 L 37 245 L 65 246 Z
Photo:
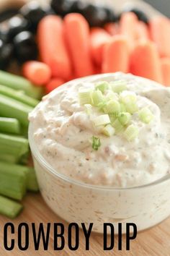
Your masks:
M 64 16 L 72 12 L 71 9 L 75 2 L 71 0 L 52 0 L 50 6 L 56 14 Z

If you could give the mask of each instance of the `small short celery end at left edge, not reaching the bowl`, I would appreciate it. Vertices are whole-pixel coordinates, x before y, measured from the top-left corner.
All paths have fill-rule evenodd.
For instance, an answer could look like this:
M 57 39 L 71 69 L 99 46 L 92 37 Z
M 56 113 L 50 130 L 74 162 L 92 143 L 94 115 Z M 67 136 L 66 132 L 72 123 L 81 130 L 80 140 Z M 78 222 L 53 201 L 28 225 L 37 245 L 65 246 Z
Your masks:
M 14 133 L 19 135 L 20 124 L 17 119 L 0 117 L 0 132 Z

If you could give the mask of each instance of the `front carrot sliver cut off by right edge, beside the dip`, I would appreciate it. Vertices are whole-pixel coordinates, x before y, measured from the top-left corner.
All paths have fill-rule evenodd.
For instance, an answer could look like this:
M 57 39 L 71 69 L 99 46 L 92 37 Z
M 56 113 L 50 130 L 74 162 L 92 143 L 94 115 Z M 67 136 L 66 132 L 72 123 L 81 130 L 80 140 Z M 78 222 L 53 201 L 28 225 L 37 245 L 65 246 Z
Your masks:
M 170 86 L 170 58 L 161 59 L 161 69 L 163 75 L 163 84 Z

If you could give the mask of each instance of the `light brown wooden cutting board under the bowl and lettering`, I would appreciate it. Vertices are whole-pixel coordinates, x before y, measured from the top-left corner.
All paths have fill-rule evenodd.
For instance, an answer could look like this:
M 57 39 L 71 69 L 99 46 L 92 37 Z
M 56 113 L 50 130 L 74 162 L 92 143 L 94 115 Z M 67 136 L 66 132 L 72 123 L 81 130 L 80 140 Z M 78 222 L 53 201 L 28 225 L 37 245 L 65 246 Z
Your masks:
M 147 231 L 140 232 L 137 235 L 135 240 L 130 242 L 130 251 L 126 251 L 125 244 L 125 236 L 122 238 L 122 251 L 117 250 L 117 240 L 115 237 L 115 247 L 112 251 L 104 251 L 103 250 L 103 236 L 99 234 L 91 234 L 90 236 L 90 250 L 89 252 L 85 250 L 85 240 L 84 234 L 80 231 L 79 237 L 79 249 L 76 252 L 71 252 L 68 249 L 67 244 L 67 229 L 68 223 L 63 221 L 61 218 L 55 215 L 45 202 L 42 200 L 40 194 L 30 194 L 24 199 L 25 208 L 22 214 L 15 219 L 14 221 L 10 221 L 8 218 L 4 218 L 0 216 L 0 256 L 12 255 L 12 256 L 22 256 L 22 255 L 116 255 L 116 256 L 170 256 L 170 218 L 166 219 L 166 221 L 162 222 L 158 226 L 153 227 L 152 229 L 148 229 Z M 14 223 L 16 233 L 10 236 L 9 239 L 15 239 L 15 249 L 12 252 L 7 252 L 3 249 L 3 229 L 4 224 L 7 222 Z M 63 223 L 65 227 L 65 239 L 66 239 L 66 247 L 61 252 L 56 252 L 53 250 L 53 228 L 50 232 L 50 242 L 48 251 L 45 252 L 42 244 L 40 244 L 40 249 L 35 251 L 34 244 L 32 242 L 32 232 L 30 226 L 30 247 L 26 252 L 19 251 L 17 248 L 17 227 L 19 223 L 26 222 L 30 225 L 30 223 L 35 223 L 39 225 L 42 223 L 51 223 L 51 228 L 53 223 Z M 10 229 L 9 229 L 10 231 Z M 73 234 L 73 238 L 74 238 Z M 73 240 L 74 241 L 74 240 Z M 109 236 L 108 236 L 109 241 Z M 10 243 L 10 240 L 9 240 Z

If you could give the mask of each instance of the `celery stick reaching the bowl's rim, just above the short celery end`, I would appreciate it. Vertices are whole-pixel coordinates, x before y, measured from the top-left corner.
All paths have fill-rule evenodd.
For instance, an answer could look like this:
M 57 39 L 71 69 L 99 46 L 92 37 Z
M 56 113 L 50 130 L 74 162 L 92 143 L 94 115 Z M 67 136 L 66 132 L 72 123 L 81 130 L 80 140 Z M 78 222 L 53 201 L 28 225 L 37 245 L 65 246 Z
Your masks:
M 0 116 L 16 118 L 21 124 L 28 126 L 28 114 L 32 109 L 24 103 L 0 94 Z

